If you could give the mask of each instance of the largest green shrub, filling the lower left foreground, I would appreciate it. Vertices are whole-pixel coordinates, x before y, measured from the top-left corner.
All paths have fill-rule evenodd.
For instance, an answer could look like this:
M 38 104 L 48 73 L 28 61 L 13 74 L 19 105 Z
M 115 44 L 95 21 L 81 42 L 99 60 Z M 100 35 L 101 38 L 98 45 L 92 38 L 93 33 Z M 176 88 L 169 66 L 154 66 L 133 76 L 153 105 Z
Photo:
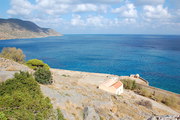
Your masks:
M 7 119 L 46 120 L 52 116 L 50 99 L 43 96 L 39 84 L 26 72 L 0 84 L 0 108 Z M 3 116 L 0 113 L 0 116 Z

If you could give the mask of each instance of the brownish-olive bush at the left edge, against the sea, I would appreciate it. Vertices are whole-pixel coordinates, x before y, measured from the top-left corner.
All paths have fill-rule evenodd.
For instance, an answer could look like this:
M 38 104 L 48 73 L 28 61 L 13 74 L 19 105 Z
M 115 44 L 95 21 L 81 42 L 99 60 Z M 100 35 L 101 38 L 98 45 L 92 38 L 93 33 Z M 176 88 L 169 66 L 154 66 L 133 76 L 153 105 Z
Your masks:
M 19 63 L 23 63 L 25 61 L 25 55 L 23 54 L 23 51 L 21 49 L 16 49 L 15 47 L 3 48 L 0 56 Z

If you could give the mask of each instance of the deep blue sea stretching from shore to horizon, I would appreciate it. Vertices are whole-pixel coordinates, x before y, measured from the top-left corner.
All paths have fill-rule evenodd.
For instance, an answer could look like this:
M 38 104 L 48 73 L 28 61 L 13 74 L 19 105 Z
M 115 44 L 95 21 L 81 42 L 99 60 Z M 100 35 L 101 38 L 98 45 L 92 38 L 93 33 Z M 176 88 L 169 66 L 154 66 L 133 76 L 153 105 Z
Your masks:
M 151 86 L 180 94 L 180 36 L 178 35 L 64 35 L 0 41 L 21 48 L 26 60 L 41 59 L 52 68 L 140 74 Z

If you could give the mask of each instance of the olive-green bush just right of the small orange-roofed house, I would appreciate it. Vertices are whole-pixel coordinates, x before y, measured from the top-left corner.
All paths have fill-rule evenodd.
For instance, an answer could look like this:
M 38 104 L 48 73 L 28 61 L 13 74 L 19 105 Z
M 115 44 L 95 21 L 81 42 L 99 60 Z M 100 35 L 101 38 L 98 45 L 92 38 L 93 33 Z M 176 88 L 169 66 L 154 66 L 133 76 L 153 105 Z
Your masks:
M 121 80 L 125 89 L 134 90 L 137 88 L 136 81 L 130 79 Z

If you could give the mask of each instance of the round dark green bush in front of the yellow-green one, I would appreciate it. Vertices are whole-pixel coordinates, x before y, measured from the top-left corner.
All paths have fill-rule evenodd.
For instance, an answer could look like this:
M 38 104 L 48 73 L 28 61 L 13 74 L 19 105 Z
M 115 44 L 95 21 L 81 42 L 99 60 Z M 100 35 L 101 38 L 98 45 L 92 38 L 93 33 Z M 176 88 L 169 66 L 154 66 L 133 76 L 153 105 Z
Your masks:
M 52 83 L 52 75 L 48 69 L 38 68 L 34 73 L 35 79 L 37 82 L 41 84 L 51 84 Z

